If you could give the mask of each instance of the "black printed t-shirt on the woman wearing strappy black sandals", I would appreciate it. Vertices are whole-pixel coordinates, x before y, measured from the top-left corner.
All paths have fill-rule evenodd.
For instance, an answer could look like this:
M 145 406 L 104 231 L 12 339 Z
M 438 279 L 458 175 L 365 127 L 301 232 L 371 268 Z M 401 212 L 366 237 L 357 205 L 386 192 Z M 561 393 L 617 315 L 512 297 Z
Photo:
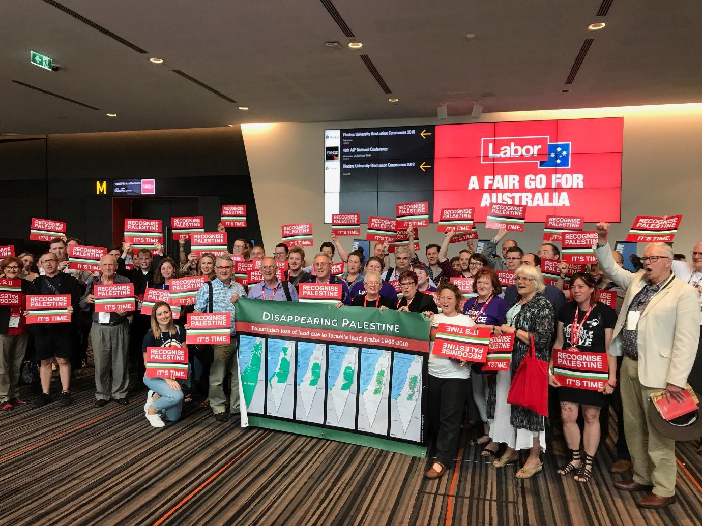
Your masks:
M 571 327 L 573 325 L 575 311 L 578 309 L 576 302 L 568 302 L 558 311 L 558 321 L 563 322 L 564 349 L 571 346 Z M 578 309 L 577 325 L 580 325 L 587 310 Z M 585 353 L 604 353 L 604 330 L 614 329 L 616 323 L 616 312 L 610 306 L 597 302 L 590 311 L 590 316 L 585 321 L 585 325 L 578 335 L 578 349 Z

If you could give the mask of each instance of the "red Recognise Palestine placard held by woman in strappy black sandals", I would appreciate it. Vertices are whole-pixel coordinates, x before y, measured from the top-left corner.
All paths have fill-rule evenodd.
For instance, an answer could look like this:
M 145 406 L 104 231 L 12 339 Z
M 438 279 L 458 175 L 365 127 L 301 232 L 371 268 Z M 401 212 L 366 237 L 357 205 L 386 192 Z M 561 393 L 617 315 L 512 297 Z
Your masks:
M 564 387 L 600 391 L 609 379 L 607 353 L 553 349 L 553 374 Z

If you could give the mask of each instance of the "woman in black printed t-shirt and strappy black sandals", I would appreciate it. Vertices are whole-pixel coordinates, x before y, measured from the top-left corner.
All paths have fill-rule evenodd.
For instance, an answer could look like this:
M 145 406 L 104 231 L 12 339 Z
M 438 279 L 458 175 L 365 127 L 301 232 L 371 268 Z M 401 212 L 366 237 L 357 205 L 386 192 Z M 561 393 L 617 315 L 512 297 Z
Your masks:
M 607 353 L 609 379 L 600 391 L 564 387 L 553 375 L 553 356 L 548 365 L 548 383 L 558 388 L 561 402 L 561 420 L 566 443 L 571 450 L 571 460 L 558 469 L 559 475 L 575 472 L 575 480 L 586 483 L 592 476 L 592 461 L 600 444 L 600 408 L 605 405 L 605 396 L 616 387 L 616 357 L 609 354 L 616 313 L 614 309 L 597 301 L 597 285 L 590 274 L 574 274 L 571 278 L 571 293 L 574 301 L 558 311 L 558 327 L 554 349 L 571 349 L 573 353 Z M 585 461 L 580 457 L 580 426 L 576 422 L 583 412 L 585 429 L 583 449 Z

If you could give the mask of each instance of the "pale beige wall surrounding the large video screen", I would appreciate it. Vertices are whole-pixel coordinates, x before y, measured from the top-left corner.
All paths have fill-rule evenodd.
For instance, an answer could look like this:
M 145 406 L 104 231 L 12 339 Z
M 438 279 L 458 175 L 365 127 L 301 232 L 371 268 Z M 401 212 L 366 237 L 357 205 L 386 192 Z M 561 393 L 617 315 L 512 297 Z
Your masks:
M 689 252 L 702 239 L 702 104 L 505 112 L 483 114 L 479 120 L 461 116 L 443 121 L 270 123 L 245 124 L 241 128 L 263 242 L 272 253 L 280 241 L 281 224 L 312 222 L 315 250 L 329 239 L 331 225 L 324 224 L 325 129 L 610 116 L 624 117 L 621 223 L 613 225 L 611 241 L 625 238 L 636 215 L 682 214 L 673 248 L 675 252 Z M 482 224 L 477 228 L 481 238 L 493 234 Z M 586 224 L 585 229 L 594 229 L 594 224 Z M 542 234 L 542 224 L 528 224 L 522 234 L 512 237 L 527 252 L 536 252 Z M 441 239 L 433 224 L 420 231 L 422 247 L 440 243 Z M 350 244 L 349 240 L 346 243 Z M 458 252 L 458 246 L 453 245 L 453 250 Z

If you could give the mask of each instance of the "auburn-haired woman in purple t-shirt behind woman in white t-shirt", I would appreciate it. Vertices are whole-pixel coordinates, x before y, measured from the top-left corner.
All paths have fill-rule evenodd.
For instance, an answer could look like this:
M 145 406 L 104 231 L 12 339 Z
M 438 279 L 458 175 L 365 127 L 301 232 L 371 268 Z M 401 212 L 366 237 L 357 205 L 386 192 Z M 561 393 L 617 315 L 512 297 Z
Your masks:
M 502 287 L 493 269 L 484 267 L 477 271 L 473 277 L 475 278 L 473 292 L 477 294 L 477 297 L 465 302 L 463 313 L 475 321 L 477 326 L 491 329 L 492 334 L 495 331 L 495 326 L 499 327 L 505 323 L 505 315 L 510 305 L 499 296 L 502 293 Z M 476 367 L 477 365 L 482 364 L 475 364 L 473 367 L 473 372 L 477 374 L 472 375 L 472 391 L 473 400 L 475 400 L 483 423 L 483 434 L 475 440 L 470 440 L 470 445 L 484 446 L 480 454 L 483 457 L 491 457 L 498 452 L 499 447 L 488 436 L 490 428 L 487 422 L 487 390 L 488 377 L 491 373 L 481 373 Z

